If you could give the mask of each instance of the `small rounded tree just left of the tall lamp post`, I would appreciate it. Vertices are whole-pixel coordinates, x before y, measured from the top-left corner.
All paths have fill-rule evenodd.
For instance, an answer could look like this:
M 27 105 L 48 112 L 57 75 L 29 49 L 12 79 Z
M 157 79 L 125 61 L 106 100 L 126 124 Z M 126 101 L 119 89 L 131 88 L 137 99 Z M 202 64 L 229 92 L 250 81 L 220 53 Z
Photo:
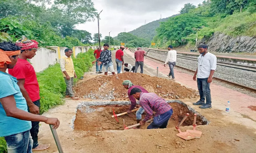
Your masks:
M 77 38 L 80 40 L 83 44 L 89 44 L 91 38 L 91 33 L 87 32 L 86 30 L 73 30 L 72 37 Z

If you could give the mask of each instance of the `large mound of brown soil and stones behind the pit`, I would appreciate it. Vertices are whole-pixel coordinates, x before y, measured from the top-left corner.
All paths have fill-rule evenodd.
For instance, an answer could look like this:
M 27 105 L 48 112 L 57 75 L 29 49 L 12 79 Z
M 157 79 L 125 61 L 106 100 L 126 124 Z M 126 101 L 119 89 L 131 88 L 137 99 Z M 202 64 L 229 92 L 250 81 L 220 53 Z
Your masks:
M 74 91 L 81 98 L 128 100 L 127 89 L 122 85 L 124 80 L 130 80 L 134 85 L 140 85 L 148 92 L 154 92 L 162 98 L 183 99 L 198 96 L 196 90 L 186 88 L 169 79 L 131 72 L 96 76 L 77 84 Z

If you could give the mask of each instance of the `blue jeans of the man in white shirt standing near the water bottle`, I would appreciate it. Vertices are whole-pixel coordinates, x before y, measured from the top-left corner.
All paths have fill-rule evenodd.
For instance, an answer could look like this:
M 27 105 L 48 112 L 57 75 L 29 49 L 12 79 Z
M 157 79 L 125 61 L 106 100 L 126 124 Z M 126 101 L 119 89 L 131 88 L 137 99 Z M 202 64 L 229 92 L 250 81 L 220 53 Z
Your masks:
M 206 103 L 211 105 L 212 98 L 211 98 L 211 90 L 210 90 L 210 83 L 207 82 L 208 78 L 197 78 L 197 87 L 200 95 L 200 101 L 204 102 L 206 99 Z

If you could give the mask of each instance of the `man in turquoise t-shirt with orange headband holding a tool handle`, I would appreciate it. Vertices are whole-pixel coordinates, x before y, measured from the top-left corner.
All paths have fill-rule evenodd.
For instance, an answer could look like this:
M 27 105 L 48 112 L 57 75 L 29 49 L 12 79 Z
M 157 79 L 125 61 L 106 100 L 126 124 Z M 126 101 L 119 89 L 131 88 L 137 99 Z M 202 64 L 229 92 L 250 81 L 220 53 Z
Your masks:
M 6 73 L 12 69 L 21 48 L 10 42 L 0 43 L 0 137 L 4 137 L 9 153 L 32 153 L 31 121 L 45 122 L 57 129 L 59 120 L 28 112 L 26 99 L 15 77 Z

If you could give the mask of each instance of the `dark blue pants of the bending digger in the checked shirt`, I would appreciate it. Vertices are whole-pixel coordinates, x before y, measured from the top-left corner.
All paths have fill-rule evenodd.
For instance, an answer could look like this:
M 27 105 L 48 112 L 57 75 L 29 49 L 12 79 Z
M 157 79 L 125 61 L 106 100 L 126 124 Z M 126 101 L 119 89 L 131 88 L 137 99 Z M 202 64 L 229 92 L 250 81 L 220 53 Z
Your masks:
M 153 122 L 148 125 L 147 129 L 164 129 L 166 128 L 168 121 L 173 113 L 173 110 L 170 109 L 170 111 L 166 111 L 165 113 L 155 116 L 153 119 Z

